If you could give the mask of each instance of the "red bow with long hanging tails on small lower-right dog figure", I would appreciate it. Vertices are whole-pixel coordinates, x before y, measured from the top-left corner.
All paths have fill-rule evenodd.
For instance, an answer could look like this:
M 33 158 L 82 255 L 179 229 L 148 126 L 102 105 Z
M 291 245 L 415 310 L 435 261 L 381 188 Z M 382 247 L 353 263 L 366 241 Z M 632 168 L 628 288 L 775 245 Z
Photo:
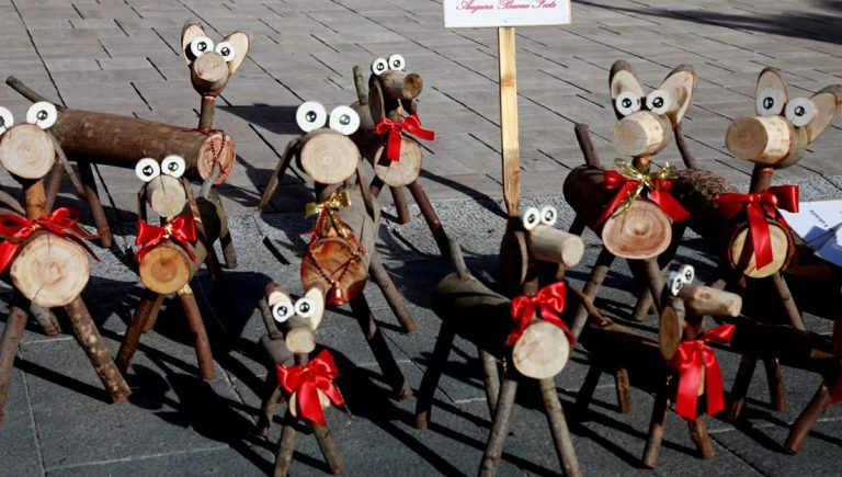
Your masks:
M 705 395 L 707 395 L 707 413 L 713 416 L 725 409 L 722 393 L 722 372 L 716 361 L 716 354 L 706 341 L 728 343 L 731 341 L 733 325 L 720 325 L 705 331 L 698 340 L 684 341 L 679 344 L 669 365 L 679 373 L 679 391 L 675 397 L 675 413 L 687 420 L 696 419 L 698 404 L 698 382 L 702 378 L 702 367 L 705 367 Z

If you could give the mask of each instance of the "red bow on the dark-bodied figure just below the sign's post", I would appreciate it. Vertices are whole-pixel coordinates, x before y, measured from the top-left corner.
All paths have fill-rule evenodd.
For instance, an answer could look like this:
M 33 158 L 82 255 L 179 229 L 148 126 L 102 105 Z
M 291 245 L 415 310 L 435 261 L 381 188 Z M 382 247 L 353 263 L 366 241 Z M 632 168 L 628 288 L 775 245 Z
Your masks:
M 521 295 L 512 300 L 512 318 L 515 321 L 515 327 L 509 338 L 505 340 L 505 345 L 511 347 L 516 343 L 523 336 L 526 327 L 530 326 L 533 317 L 535 317 L 535 309 L 541 313 L 541 317 L 544 321 L 548 321 L 559 328 L 567 336 L 567 340 L 570 344 L 576 342 L 573 333 L 567 325 L 558 318 L 558 315 L 565 310 L 565 300 L 567 298 L 567 284 L 565 282 L 557 282 L 551 285 L 547 285 L 538 291 L 535 296 Z

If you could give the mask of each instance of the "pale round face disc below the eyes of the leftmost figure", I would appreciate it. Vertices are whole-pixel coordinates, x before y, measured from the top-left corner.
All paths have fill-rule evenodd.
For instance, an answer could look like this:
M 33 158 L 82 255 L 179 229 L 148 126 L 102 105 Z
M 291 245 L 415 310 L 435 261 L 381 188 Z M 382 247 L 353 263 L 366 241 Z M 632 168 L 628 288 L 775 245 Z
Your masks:
M 41 179 L 53 169 L 55 162 L 53 139 L 34 124 L 12 127 L 0 140 L 0 163 L 18 177 Z

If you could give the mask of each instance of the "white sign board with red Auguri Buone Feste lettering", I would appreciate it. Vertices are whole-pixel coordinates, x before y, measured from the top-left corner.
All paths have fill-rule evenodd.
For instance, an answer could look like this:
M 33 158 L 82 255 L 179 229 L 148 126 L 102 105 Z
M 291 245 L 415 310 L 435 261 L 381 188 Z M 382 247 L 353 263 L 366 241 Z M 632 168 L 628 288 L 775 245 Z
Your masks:
M 570 0 L 444 0 L 444 26 L 533 26 L 570 23 Z

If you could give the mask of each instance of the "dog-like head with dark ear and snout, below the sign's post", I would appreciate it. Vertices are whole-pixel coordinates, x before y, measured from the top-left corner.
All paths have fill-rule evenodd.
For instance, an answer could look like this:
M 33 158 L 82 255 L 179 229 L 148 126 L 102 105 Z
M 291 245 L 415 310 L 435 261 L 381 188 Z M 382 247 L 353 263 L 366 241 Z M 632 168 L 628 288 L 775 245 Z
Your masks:
M 551 205 L 527 207 L 520 216 L 509 217 L 500 243 L 500 280 L 509 291 L 520 291 L 536 276 L 539 264 L 576 266 L 584 253 L 579 236 L 555 228 L 558 211 Z

